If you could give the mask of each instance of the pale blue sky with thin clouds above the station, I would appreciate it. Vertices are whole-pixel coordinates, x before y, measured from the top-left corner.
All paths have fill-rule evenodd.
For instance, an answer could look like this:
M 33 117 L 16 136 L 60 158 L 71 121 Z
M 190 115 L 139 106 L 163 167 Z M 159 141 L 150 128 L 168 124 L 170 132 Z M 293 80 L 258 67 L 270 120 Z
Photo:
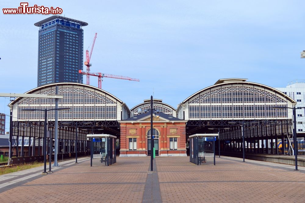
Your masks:
M 129 108 L 151 95 L 176 108 L 221 78 L 246 78 L 271 87 L 305 79 L 304 1 L 28 1 L 63 9 L 84 26 L 84 56 L 95 32 L 91 72 L 138 78 L 104 78 L 102 89 Z M 20 1 L 0 1 L 0 92 L 37 87 L 38 27 L 51 15 L 4 15 Z M 91 48 L 91 47 L 90 47 Z M 89 48 L 89 50 L 90 50 Z M 84 67 L 85 69 L 85 67 Z M 86 79 L 84 78 L 84 82 Z M 97 86 L 98 78 L 91 77 Z M 9 98 L 0 112 L 9 114 Z M 6 117 L 6 131 L 9 131 Z

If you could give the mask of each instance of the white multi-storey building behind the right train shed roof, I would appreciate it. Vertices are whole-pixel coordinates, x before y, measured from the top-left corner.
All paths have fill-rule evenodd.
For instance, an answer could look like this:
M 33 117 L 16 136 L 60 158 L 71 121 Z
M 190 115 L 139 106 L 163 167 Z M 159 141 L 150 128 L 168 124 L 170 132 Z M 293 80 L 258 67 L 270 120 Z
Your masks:
M 296 107 L 305 107 L 305 80 L 275 88 L 296 100 Z M 292 110 L 291 110 L 292 111 Z M 296 131 L 305 132 L 305 109 L 296 109 Z

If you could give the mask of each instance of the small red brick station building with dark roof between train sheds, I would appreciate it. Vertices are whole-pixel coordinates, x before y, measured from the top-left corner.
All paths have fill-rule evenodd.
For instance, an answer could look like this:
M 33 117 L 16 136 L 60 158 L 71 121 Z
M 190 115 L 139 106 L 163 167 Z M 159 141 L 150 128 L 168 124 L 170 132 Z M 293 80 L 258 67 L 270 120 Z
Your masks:
M 156 156 L 186 156 L 185 120 L 153 111 L 153 133 Z M 151 154 L 150 110 L 120 123 L 120 157 Z M 159 116 L 159 118 L 157 117 Z

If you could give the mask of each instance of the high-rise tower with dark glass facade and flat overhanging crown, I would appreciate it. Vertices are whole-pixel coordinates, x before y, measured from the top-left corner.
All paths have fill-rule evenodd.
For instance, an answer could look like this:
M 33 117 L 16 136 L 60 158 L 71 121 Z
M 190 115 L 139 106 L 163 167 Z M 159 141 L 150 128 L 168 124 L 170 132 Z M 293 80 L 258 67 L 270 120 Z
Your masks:
M 34 24 L 38 31 L 37 86 L 57 82 L 83 82 L 84 30 L 80 20 L 51 16 Z

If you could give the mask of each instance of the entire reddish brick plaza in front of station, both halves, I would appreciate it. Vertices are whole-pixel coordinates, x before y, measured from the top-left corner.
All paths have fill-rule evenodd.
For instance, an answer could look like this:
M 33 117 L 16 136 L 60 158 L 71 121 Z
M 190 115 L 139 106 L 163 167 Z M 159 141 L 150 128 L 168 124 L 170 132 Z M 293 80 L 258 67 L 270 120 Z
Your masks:
M 0 202 L 158 202 L 147 196 L 149 188 L 162 202 L 305 202 L 304 167 L 295 172 L 289 165 L 241 161 L 216 158 L 214 166 L 209 158 L 197 166 L 189 157 L 157 157 L 156 176 L 150 176 L 149 157 L 118 157 L 109 167 L 97 160 L 90 167 L 86 158 L 2 187 Z M 149 176 L 158 177 L 157 187 L 147 181 Z

